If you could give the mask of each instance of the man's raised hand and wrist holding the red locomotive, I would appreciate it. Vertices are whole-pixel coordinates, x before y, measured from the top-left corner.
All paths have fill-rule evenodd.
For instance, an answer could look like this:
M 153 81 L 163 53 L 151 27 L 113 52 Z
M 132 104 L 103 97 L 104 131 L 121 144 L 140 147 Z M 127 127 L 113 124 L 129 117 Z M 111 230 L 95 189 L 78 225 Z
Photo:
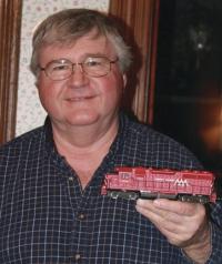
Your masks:
M 203 204 L 139 199 L 135 209 L 160 230 L 169 243 L 181 247 L 195 263 L 205 263 L 211 253 L 211 232 Z

